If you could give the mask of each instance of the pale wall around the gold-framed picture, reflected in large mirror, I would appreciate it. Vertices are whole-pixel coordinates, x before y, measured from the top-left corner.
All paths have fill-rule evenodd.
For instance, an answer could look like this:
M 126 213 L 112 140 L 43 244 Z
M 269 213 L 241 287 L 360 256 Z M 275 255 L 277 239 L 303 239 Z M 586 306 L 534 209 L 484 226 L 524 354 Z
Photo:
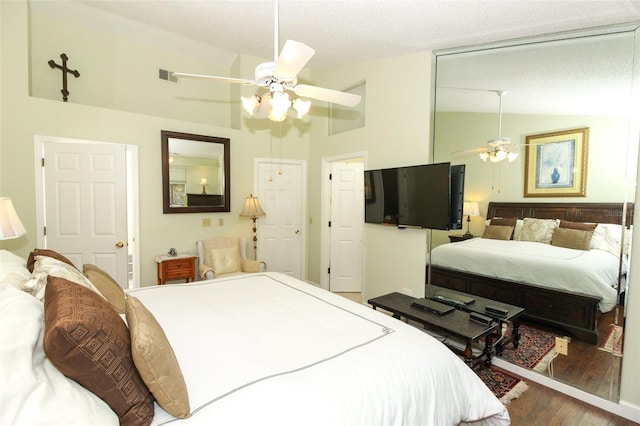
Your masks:
M 490 201 L 532 201 L 524 198 L 526 137 L 558 130 L 589 128 L 586 197 L 536 198 L 538 202 L 633 201 L 637 144 L 628 147 L 629 119 L 625 117 L 503 115 L 503 136 L 523 145 L 512 163 L 492 164 L 479 160 L 477 153 L 453 155 L 486 144 L 496 134 L 496 114 L 438 113 L 436 117 L 435 161 L 466 164 L 465 199 L 478 202 L 480 217 L 471 219 L 471 233 L 481 235 Z M 465 123 L 460 126 L 459 123 Z M 632 161 L 627 162 L 627 158 Z M 615 166 L 612 166 L 615 165 Z M 627 165 L 627 167 L 625 167 Z M 629 176 L 629 177 L 627 177 Z M 625 182 L 627 185 L 625 186 Z M 465 222 L 466 230 L 466 222 Z M 435 245 L 448 242 L 448 234 L 437 232 Z

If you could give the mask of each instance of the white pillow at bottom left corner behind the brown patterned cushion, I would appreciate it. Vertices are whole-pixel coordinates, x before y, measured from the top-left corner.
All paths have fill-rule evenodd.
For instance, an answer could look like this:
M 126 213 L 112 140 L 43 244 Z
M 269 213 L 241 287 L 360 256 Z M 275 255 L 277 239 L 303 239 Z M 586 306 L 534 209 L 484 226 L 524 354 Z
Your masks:
M 0 286 L 0 317 L 0 424 L 119 425 L 104 401 L 65 377 L 45 356 L 42 303 Z

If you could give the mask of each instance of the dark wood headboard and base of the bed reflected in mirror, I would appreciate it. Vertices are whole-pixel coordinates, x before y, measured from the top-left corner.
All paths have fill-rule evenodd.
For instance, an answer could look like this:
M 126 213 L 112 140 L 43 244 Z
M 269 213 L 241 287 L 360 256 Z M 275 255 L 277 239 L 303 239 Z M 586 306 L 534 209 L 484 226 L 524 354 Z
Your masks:
M 624 224 L 628 227 L 633 218 L 633 204 L 627 203 L 626 211 L 623 206 L 623 203 L 490 202 L 487 218 L 534 217 L 622 224 L 624 217 Z M 429 279 L 441 287 L 521 306 L 525 309 L 523 316 L 526 318 L 557 326 L 591 344 L 598 341 L 599 296 L 536 287 L 437 266 L 430 271 L 427 269 L 427 281 Z

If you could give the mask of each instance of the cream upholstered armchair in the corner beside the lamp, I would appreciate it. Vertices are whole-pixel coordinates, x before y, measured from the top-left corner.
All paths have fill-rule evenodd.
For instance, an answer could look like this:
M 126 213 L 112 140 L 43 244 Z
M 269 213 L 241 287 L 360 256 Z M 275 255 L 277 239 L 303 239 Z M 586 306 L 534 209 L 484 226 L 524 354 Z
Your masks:
M 213 237 L 198 240 L 196 245 L 201 279 L 267 270 L 265 262 L 247 259 L 247 240 L 244 237 Z

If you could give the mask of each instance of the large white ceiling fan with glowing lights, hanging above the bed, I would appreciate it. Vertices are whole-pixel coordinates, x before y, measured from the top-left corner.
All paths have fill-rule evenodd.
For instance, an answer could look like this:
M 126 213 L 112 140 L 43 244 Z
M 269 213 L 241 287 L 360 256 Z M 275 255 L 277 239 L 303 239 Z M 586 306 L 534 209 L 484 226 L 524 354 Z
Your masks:
M 253 80 L 232 77 L 217 77 L 201 74 L 174 72 L 180 78 L 201 78 L 225 83 L 237 83 L 248 86 L 258 86 L 267 89 L 262 95 L 250 98 L 242 97 L 242 106 L 256 118 L 269 118 L 273 121 L 283 121 L 287 117 L 289 108 L 302 118 L 311 106 L 310 101 L 291 98 L 288 92 L 297 96 L 304 96 L 348 107 L 360 103 L 360 95 L 340 92 L 323 87 L 298 84 L 298 73 L 315 54 L 311 47 L 293 40 L 287 40 L 278 54 L 278 0 L 275 0 L 275 28 L 274 28 L 274 60 L 259 64 L 255 70 Z

